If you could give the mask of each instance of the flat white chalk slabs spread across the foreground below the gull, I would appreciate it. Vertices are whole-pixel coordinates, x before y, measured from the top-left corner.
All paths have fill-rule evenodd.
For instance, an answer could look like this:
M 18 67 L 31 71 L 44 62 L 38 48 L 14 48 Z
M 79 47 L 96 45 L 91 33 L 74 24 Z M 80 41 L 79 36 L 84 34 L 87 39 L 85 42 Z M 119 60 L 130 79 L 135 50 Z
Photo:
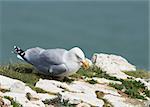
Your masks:
M 95 80 L 99 81 L 97 84 L 89 84 L 84 80 L 66 83 L 56 80 L 40 79 L 35 87 L 45 90 L 47 93 L 36 92 L 19 80 L 5 76 L 0 76 L 1 79 L 5 79 L 6 81 L 0 81 L 0 84 L 5 84 L 5 87 L 2 86 L 0 88 L 9 90 L 0 94 L 0 101 L 5 105 L 10 105 L 9 99 L 5 98 L 6 96 L 15 99 L 23 107 L 54 106 L 51 105 L 51 102 L 56 99 L 59 99 L 60 103 L 67 102 L 67 104 L 75 104 L 76 107 L 103 107 L 106 104 L 113 105 L 114 107 L 120 107 L 120 105 L 122 107 L 146 107 L 147 104 L 145 104 L 145 101 L 122 96 L 116 89 L 108 85 L 110 82 L 118 84 L 121 84 L 121 82 L 104 78 L 95 78 Z M 15 82 L 8 84 L 11 81 Z

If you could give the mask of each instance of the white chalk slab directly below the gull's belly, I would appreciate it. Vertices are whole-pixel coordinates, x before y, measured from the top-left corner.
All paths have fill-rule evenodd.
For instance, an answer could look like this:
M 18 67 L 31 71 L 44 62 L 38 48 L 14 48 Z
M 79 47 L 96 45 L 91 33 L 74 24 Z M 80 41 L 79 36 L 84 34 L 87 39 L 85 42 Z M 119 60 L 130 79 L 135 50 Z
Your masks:
M 62 92 L 64 89 L 62 88 L 59 88 L 57 87 L 57 85 L 55 85 L 54 83 L 52 83 L 51 81 L 54 81 L 54 80 L 43 80 L 43 79 L 40 79 L 37 83 L 36 83 L 36 87 L 39 87 L 45 91 L 48 91 L 50 93 L 54 93 L 54 94 L 57 94 L 57 93 L 60 93 Z

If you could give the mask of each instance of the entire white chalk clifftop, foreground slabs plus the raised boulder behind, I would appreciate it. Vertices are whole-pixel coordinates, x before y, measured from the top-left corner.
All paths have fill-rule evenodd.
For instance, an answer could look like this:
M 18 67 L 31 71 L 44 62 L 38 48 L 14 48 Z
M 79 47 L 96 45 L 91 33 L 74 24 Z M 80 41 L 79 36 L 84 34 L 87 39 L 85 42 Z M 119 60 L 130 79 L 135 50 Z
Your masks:
M 94 54 L 92 62 L 95 65 L 91 64 L 91 68 L 97 66 L 102 72 L 95 72 L 92 69 L 83 71 L 85 75 L 79 73 L 80 77 L 77 75 L 69 77 L 73 79 L 72 82 L 40 78 L 34 86 L 30 86 L 20 80 L 0 75 L 0 106 L 11 107 L 15 104 L 16 107 L 148 107 L 150 105 L 149 94 L 145 95 L 141 91 L 149 89 L 150 83 L 123 73 L 122 71 L 136 70 L 127 60 L 116 55 Z M 140 90 L 140 97 L 135 98 L 128 93 L 128 85 L 125 83 L 132 82 L 138 84 L 135 87 Z

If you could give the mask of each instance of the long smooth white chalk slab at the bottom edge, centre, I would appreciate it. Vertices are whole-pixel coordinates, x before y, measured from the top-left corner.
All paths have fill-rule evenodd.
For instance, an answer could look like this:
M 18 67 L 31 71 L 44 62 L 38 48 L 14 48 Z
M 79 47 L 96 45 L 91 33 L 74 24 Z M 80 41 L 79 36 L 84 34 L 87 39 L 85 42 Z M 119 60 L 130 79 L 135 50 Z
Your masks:
M 72 93 L 64 92 L 61 93 L 61 101 L 68 101 L 70 104 L 79 104 L 81 102 L 88 103 L 92 106 L 103 107 L 104 102 L 101 99 L 97 99 L 95 96 L 85 93 Z

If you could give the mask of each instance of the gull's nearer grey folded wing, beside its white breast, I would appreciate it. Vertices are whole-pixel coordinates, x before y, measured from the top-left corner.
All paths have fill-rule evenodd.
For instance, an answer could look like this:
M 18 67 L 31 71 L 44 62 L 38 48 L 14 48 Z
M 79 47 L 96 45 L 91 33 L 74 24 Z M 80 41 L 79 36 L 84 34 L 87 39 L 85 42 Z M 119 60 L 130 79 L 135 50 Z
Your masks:
M 46 74 L 57 76 L 67 71 L 67 68 L 63 61 L 63 54 L 67 50 L 65 49 L 48 49 L 40 54 L 40 62 L 38 68 Z

